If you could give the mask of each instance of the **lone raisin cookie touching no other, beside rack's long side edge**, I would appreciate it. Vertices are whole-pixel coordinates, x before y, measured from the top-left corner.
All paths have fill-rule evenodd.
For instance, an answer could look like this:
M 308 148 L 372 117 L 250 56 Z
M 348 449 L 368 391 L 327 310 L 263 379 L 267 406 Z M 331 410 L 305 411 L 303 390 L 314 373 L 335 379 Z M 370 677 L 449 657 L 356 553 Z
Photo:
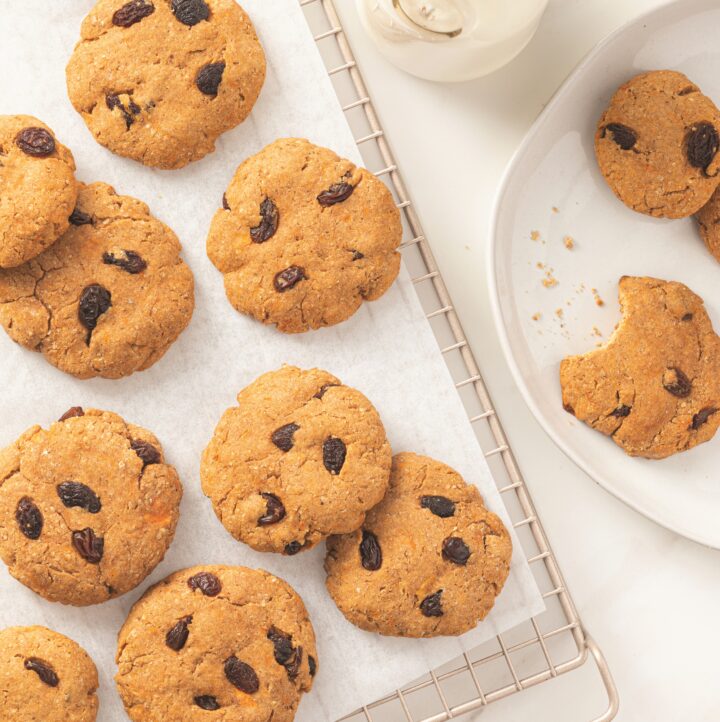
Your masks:
M 298 333 L 332 326 L 390 288 L 400 212 L 372 173 L 286 138 L 237 169 L 213 218 L 210 260 L 241 313 Z

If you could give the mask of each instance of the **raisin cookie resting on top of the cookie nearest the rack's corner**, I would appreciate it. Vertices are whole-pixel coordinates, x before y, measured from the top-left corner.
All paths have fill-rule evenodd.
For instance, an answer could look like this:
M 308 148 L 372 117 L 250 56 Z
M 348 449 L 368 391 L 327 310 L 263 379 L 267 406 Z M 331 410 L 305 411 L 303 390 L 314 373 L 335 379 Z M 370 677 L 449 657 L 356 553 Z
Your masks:
M 373 405 L 326 371 L 295 366 L 263 374 L 237 400 L 200 468 L 225 528 L 253 549 L 290 555 L 357 529 L 390 475 Z

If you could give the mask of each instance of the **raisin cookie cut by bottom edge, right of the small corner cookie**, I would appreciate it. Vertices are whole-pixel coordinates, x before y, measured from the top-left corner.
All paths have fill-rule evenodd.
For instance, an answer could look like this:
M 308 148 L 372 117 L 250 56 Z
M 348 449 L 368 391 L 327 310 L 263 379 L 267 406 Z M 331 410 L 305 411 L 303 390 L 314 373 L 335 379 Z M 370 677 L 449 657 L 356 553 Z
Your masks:
M 318 666 L 292 587 L 230 566 L 183 569 L 151 587 L 120 630 L 116 660 L 137 722 L 291 722 Z

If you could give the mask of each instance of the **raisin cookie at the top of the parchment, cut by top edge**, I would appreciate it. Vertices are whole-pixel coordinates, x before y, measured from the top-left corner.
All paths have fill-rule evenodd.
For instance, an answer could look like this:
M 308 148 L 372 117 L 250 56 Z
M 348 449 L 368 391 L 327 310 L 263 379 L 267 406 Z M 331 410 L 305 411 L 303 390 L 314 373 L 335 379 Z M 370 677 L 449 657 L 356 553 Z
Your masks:
M 265 54 L 234 0 L 98 0 L 66 69 L 95 139 L 156 168 L 182 168 L 242 123 Z

